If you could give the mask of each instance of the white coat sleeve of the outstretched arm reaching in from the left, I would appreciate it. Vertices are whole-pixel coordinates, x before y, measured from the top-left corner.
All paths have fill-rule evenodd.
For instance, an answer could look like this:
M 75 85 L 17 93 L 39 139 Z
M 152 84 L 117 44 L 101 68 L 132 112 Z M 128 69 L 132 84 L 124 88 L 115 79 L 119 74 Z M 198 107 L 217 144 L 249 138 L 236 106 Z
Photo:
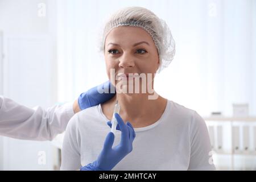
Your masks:
M 44 110 L 30 109 L 0 96 L 0 135 L 17 139 L 52 140 L 74 115 L 72 103 Z

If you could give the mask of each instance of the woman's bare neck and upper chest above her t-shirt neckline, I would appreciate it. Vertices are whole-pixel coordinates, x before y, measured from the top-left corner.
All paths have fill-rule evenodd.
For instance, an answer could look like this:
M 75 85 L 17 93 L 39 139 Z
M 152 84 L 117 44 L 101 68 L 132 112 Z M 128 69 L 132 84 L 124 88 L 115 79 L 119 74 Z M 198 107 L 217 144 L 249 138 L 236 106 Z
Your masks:
M 167 100 L 158 96 L 149 100 L 148 94 L 116 94 L 110 101 L 102 105 L 102 111 L 110 119 L 113 114 L 114 104 L 118 98 L 120 106 L 119 115 L 123 121 L 129 121 L 134 127 L 144 127 L 158 121 L 166 108 Z

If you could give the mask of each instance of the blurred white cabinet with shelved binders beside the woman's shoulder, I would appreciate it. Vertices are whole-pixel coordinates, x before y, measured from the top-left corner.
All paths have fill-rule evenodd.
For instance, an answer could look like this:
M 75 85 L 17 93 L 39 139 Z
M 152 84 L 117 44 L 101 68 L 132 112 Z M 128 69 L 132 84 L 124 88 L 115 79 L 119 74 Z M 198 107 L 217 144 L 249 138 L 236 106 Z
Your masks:
M 256 170 L 256 118 L 204 118 L 217 169 Z

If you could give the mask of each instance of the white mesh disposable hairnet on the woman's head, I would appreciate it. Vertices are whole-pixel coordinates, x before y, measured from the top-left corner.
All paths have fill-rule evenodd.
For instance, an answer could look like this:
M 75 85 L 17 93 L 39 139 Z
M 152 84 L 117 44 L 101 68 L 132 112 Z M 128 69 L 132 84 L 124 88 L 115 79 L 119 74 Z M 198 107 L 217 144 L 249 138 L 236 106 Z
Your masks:
M 119 26 L 141 27 L 151 35 L 158 49 L 160 65 L 158 73 L 168 67 L 175 55 L 175 42 L 171 31 L 163 19 L 144 7 L 126 7 L 114 13 L 105 24 L 101 40 L 101 51 L 105 50 L 105 40 L 109 32 Z

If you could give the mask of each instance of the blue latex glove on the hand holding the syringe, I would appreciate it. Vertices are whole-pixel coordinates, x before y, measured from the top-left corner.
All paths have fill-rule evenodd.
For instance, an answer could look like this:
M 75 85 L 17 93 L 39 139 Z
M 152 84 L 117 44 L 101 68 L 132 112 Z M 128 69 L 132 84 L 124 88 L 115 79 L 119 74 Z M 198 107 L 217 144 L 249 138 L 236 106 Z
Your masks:
M 133 140 L 135 131 L 131 123 L 123 122 L 119 114 L 115 113 L 118 125 L 117 130 L 121 133 L 121 142 L 112 148 L 114 143 L 114 134 L 110 132 L 104 142 L 104 147 L 97 160 L 87 166 L 81 167 L 81 171 L 109 171 L 115 167 L 127 154 L 133 150 Z M 111 123 L 108 125 L 111 126 Z

